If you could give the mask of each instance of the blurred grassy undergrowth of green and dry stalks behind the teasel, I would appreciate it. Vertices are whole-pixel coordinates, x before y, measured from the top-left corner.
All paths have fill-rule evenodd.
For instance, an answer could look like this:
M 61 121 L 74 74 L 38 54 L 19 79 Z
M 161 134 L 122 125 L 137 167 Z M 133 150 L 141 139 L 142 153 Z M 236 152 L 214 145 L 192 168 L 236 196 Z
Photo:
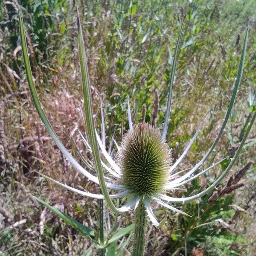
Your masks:
M 35 84 L 58 136 L 76 154 L 90 157 L 77 128 L 83 128 L 81 82 L 73 1 L 19 1 L 22 6 Z M 80 1 L 96 116 L 104 106 L 106 132 L 121 137 L 128 127 L 127 98 L 134 121 L 145 105 L 151 122 L 156 94 L 159 126 L 164 121 L 170 64 L 181 20 L 187 12 L 173 91 L 167 142 L 177 158 L 207 113 L 209 118 L 179 170 L 192 167 L 209 148 L 224 117 L 238 70 L 247 26 L 250 27 L 245 71 L 226 133 L 207 165 L 232 154 L 247 128 L 256 104 L 256 3 L 232 1 Z M 0 254 L 96 255 L 89 241 L 64 224 L 31 195 L 43 198 L 76 220 L 96 227 L 97 201 L 53 186 L 37 172 L 80 189 L 99 192 L 76 173 L 50 140 L 35 113 L 25 79 L 17 11 L 14 2 L 0 9 Z M 122 123 L 122 125 L 119 125 Z M 100 121 L 99 121 L 100 124 Z M 244 125 L 245 124 L 245 125 Z M 236 167 L 218 190 L 184 204 L 192 217 L 154 209 L 168 217 L 160 230 L 148 230 L 147 255 L 253 255 L 256 251 L 256 133 L 252 132 Z M 76 155 L 79 158 L 79 155 Z M 61 159 L 61 161 L 59 160 Z M 179 195 L 192 195 L 211 183 L 228 160 L 193 181 Z M 233 178 L 232 178 L 233 177 Z M 73 203 L 75 201 L 76 203 Z M 122 204 L 123 202 L 120 202 Z M 106 209 L 106 228 L 127 226 L 128 214 Z M 127 238 L 117 247 L 131 249 Z M 112 253 L 112 254 L 111 254 Z

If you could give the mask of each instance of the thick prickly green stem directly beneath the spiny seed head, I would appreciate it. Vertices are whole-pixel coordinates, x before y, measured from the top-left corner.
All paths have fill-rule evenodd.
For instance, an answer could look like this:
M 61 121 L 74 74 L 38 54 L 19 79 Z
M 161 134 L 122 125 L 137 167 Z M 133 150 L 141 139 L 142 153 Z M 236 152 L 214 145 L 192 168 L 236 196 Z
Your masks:
M 144 255 L 147 222 L 148 220 L 145 212 L 145 206 L 141 200 L 137 209 L 135 210 L 134 247 L 132 256 Z

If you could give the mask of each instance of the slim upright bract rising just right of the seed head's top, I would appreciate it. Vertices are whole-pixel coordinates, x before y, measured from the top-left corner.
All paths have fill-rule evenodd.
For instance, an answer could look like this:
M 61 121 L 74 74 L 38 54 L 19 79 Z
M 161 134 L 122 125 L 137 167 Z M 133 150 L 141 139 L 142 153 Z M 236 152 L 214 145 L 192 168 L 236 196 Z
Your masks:
M 173 82 L 174 82 L 174 78 L 175 78 L 177 55 L 178 55 L 179 48 L 180 48 L 180 41 L 181 41 L 181 36 L 182 36 L 182 31 L 183 31 L 183 28 L 184 28 L 185 20 L 186 20 L 186 15 L 183 17 L 183 21 L 182 21 L 182 24 L 181 24 L 181 27 L 180 27 L 180 32 L 179 32 L 179 35 L 178 35 L 178 40 L 177 40 L 177 44 L 176 44 L 176 47 L 175 47 L 173 61 L 172 61 L 172 71 L 171 71 L 170 82 L 169 82 L 167 108 L 166 108 L 166 115 L 165 115 L 165 120 L 164 120 L 164 124 L 163 124 L 162 138 L 164 140 L 166 139 L 166 134 L 167 134 L 168 125 L 169 125 L 169 116 L 170 116 L 171 104 L 172 104 L 172 88 L 173 88 Z

